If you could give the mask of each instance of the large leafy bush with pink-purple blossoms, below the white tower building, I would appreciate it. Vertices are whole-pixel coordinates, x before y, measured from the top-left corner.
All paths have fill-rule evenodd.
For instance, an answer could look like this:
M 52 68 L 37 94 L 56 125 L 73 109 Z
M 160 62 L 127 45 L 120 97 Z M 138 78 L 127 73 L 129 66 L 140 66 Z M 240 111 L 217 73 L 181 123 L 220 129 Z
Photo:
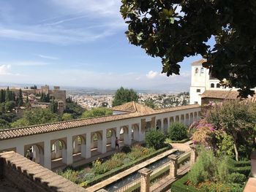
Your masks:
M 211 106 L 205 117 L 192 124 L 193 140 L 217 149 L 217 153 L 250 154 L 255 145 L 256 104 L 226 101 Z M 232 147 L 233 145 L 233 147 Z

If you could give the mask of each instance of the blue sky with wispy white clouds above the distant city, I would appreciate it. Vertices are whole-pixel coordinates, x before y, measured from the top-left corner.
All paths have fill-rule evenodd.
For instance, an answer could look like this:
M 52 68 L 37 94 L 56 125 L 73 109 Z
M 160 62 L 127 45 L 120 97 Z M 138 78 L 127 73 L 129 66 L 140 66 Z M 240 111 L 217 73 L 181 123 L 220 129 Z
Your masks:
M 160 58 L 129 44 L 117 0 L 1 0 L 0 87 L 15 83 L 189 91 L 190 64 L 161 74 Z M 5 84 L 4 84 L 5 83 Z

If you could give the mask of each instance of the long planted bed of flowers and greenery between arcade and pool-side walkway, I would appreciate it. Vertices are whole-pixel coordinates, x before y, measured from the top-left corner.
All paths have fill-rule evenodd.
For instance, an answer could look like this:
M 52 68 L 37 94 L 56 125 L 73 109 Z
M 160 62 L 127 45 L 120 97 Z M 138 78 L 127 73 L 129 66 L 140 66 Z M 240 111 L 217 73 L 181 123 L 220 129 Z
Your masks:
M 159 150 L 153 150 L 146 147 L 134 146 L 130 153 L 115 153 L 105 162 L 99 160 L 94 161 L 91 167 L 86 169 L 68 168 L 64 172 L 59 171 L 63 177 L 71 180 L 80 186 L 87 187 L 106 180 L 129 167 L 140 164 L 148 158 L 152 158 L 159 153 L 163 153 L 170 149 L 170 145 Z

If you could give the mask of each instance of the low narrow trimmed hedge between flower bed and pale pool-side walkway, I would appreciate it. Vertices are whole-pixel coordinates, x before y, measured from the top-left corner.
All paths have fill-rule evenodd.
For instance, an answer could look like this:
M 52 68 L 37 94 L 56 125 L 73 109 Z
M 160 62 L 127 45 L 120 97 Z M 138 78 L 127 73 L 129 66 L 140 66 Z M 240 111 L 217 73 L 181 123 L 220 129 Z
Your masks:
M 154 153 L 138 158 L 136 161 L 131 161 L 129 162 L 129 164 L 124 164 L 123 166 L 119 166 L 116 169 L 112 169 L 109 172 L 105 172 L 104 174 L 99 174 L 96 177 L 94 177 L 94 179 L 80 183 L 79 185 L 81 187 L 87 187 L 99 183 L 102 180 L 106 180 L 107 178 L 112 177 L 113 175 L 118 174 L 119 172 L 123 172 L 124 170 L 129 169 L 130 167 L 135 166 L 136 164 L 140 164 L 141 162 L 146 161 L 149 158 L 158 155 L 159 153 L 163 153 L 166 150 L 169 150 L 170 148 L 170 145 L 167 145 L 167 147 L 163 147 L 162 149 L 156 150 Z

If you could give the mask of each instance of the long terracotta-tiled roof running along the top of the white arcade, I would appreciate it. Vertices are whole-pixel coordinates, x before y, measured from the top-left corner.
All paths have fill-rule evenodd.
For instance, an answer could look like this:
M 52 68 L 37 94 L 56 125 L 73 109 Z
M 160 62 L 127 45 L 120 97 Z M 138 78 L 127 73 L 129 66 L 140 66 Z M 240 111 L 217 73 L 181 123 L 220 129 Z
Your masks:
M 94 125 L 98 123 L 107 123 L 107 122 L 116 121 L 116 120 L 124 120 L 129 118 L 143 117 L 147 115 L 156 115 L 164 112 L 173 112 L 178 110 L 187 110 L 195 107 L 200 107 L 200 105 L 198 104 L 181 106 L 181 107 L 171 107 L 171 108 L 166 108 L 162 110 L 148 110 L 147 107 L 145 107 L 146 110 L 144 109 L 145 110 L 144 112 L 144 110 L 142 109 L 143 105 L 136 104 L 136 106 L 138 108 L 141 107 L 141 109 L 136 108 L 136 112 L 131 112 L 127 114 L 108 115 L 108 116 L 102 116 L 98 118 L 69 120 L 69 121 L 61 121 L 57 123 L 27 126 L 23 128 L 5 129 L 0 131 L 0 140 L 12 139 L 17 137 L 25 137 L 25 136 L 34 135 L 34 134 L 45 134 L 53 131 L 61 131 L 69 128 L 80 127 L 80 126 L 89 126 L 89 125 Z

